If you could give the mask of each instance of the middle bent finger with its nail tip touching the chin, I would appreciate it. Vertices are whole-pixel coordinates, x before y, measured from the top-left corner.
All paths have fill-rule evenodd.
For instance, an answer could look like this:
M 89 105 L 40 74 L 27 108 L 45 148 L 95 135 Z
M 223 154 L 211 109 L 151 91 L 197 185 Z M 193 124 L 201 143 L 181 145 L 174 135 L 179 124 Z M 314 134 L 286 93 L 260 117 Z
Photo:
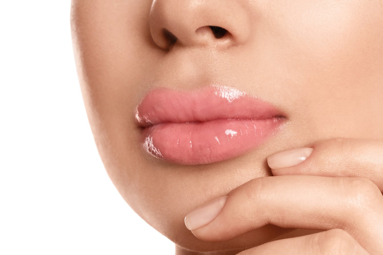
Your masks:
M 368 179 L 285 175 L 250 180 L 189 213 L 185 224 L 206 241 L 229 240 L 267 224 L 340 228 L 377 254 L 383 250 L 382 242 L 375 243 L 383 240 L 382 212 L 383 196 Z

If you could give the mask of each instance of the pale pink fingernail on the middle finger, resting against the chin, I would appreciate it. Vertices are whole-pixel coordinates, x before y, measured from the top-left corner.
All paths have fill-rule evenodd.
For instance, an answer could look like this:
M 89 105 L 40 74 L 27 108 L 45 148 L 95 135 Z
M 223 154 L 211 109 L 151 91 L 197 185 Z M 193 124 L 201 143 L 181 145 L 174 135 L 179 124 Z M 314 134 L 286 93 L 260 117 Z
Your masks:
M 213 221 L 221 212 L 227 198 L 228 196 L 216 198 L 188 213 L 185 217 L 186 227 L 194 230 Z

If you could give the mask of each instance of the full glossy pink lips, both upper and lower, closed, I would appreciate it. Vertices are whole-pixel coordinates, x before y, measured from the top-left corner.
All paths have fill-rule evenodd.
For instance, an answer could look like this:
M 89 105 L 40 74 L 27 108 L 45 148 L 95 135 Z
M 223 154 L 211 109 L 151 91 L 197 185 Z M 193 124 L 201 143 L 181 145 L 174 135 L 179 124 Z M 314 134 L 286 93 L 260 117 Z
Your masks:
M 226 86 L 155 89 L 137 106 L 144 148 L 184 165 L 234 158 L 262 144 L 285 121 L 267 102 Z

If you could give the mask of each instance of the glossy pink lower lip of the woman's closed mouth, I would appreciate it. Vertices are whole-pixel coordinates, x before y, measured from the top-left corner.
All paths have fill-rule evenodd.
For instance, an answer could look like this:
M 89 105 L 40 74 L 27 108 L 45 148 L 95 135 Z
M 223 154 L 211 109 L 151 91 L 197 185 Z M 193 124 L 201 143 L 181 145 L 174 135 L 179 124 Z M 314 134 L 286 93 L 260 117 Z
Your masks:
M 160 123 L 144 129 L 144 145 L 157 158 L 183 165 L 235 158 L 275 134 L 286 119 Z

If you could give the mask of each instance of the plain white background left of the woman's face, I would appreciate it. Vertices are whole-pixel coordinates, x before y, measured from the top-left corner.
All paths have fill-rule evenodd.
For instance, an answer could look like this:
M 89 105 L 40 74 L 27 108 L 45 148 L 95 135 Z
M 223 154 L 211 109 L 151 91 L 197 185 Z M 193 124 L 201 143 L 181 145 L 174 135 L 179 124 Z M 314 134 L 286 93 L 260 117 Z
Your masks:
M 0 4 L 0 254 L 173 254 L 106 175 L 69 11 L 69 0 Z

